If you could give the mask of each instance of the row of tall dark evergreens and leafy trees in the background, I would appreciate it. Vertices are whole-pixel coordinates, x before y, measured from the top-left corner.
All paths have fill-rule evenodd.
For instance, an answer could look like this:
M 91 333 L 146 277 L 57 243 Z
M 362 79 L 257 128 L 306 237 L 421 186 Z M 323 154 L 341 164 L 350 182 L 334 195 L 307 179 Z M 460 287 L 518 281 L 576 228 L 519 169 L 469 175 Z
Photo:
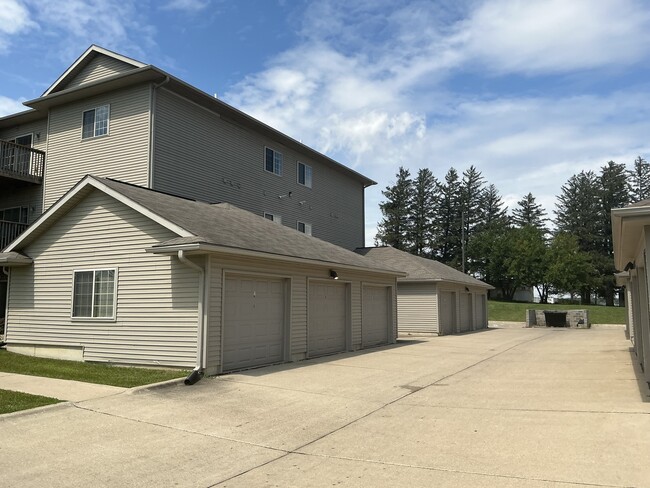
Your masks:
M 614 304 L 611 210 L 650 198 L 650 164 L 609 161 L 574 174 L 557 196 L 555 218 L 528 193 L 508 212 L 499 191 L 474 167 L 444 180 L 399 168 L 382 191 L 375 243 L 435 259 L 493 285 L 512 300 L 535 287 L 543 303 L 568 293 L 582 304 Z

